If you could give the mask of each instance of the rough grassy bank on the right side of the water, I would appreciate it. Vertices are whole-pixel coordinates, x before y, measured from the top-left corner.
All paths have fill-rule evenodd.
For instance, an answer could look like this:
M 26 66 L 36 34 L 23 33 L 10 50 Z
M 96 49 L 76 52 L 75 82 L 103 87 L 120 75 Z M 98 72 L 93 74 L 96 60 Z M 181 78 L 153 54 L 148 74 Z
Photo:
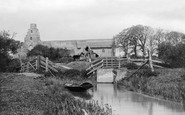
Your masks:
M 128 76 L 135 70 L 128 70 Z M 128 90 L 179 103 L 185 102 L 185 69 L 144 69 L 118 85 Z

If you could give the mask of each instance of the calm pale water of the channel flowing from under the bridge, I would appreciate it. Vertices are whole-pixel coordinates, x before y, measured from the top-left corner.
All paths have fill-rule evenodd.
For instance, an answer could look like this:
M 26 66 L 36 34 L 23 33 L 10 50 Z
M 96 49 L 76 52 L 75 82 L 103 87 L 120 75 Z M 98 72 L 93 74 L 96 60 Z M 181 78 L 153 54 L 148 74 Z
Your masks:
M 109 104 L 116 115 L 185 115 L 185 108 L 180 104 L 130 92 L 113 84 L 98 84 L 86 93 L 73 95 Z

